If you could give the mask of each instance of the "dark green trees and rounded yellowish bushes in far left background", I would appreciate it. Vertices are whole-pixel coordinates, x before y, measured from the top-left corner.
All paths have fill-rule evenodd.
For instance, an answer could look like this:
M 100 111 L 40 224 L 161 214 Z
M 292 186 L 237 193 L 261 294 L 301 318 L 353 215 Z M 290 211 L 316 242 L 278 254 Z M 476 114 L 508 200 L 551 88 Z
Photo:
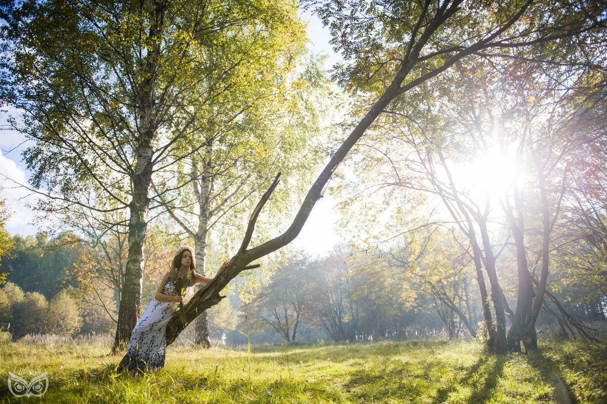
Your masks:
M 30 333 L 73 335 L 113 332 L 114 322 L 79 278 L 83 244 L 71 234 L 13 237 L 2 260 L 7 282 L 0 288 L 0 328 L 13 337 Z M 107 294 L 107 293 L 106 293 Z M 115 303 L 107 294 L 104 304 Z

